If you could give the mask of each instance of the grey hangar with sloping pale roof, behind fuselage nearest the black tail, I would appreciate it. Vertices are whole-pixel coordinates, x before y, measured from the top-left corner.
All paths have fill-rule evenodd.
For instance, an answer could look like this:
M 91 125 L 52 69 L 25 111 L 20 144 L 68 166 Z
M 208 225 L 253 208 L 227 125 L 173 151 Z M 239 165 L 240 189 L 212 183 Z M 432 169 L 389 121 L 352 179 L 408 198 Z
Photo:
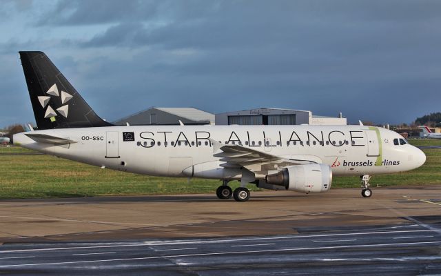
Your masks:
M 116 125 L 212 125 L 214 114 L 196 108 L 148 108 L 114 121 Z

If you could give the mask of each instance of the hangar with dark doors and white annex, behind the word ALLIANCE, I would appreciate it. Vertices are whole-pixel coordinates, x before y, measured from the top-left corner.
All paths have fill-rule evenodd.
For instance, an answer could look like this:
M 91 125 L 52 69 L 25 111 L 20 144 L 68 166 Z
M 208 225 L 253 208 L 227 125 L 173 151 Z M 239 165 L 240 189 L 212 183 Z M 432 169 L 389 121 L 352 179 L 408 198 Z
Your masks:
M 346 125 L 342 117 L 312 115 L 311 111 L 283 108 L 255 108 L 216 114 L 216 125 Z

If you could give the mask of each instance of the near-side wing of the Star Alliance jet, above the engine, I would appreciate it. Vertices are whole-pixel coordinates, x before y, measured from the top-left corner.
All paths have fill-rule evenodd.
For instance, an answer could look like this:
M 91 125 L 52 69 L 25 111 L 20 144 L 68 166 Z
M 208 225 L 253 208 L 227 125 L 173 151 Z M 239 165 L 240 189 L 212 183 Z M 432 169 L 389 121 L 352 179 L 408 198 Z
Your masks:
M 214 157 L 220 157 L 220 164 L 224 168 L 247 168 L 247 170 L 267 175 L 269 170 L 277 170 L 287 166 L 316 164 L 315 161 L 296 160 L 287 157 L 271 155 L 268 152 L 261 152 L 245 146 L 223 145 L 218 141 L 213 141 Z

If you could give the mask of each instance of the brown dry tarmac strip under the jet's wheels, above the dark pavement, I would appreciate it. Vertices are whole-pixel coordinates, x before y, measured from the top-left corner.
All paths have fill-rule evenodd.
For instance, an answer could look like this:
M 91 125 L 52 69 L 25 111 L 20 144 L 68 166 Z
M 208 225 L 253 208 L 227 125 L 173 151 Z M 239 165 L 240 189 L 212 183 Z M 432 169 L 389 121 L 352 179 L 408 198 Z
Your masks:
M 0 201 L 0 242 L 115 241 L 293 235 L 311 229 L 398 226 L 441 219 L 441 186 L 327 193 L 252 193 L 247 202 L 215 195 L 83 197 Z

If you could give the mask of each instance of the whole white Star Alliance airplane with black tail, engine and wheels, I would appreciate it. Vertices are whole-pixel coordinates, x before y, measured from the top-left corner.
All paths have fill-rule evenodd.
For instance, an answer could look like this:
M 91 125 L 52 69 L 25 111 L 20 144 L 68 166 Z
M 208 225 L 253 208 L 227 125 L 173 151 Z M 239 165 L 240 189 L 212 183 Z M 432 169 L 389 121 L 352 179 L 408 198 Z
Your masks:
M 48 155 L 144 175 L 220 179 L 217 197 L 236 201 L 249 199 L 249 184 L 323 193 L 333 175 L 359 175 L 362 197 L 371 197 L 371 175 L 426 161 L 398 133 L 373 126 L 114 126 L 44 52 L 19 55 L 38 130 L 14 135 L 14 144 Z M 234 191 L 232 180 L 240 181 Z

